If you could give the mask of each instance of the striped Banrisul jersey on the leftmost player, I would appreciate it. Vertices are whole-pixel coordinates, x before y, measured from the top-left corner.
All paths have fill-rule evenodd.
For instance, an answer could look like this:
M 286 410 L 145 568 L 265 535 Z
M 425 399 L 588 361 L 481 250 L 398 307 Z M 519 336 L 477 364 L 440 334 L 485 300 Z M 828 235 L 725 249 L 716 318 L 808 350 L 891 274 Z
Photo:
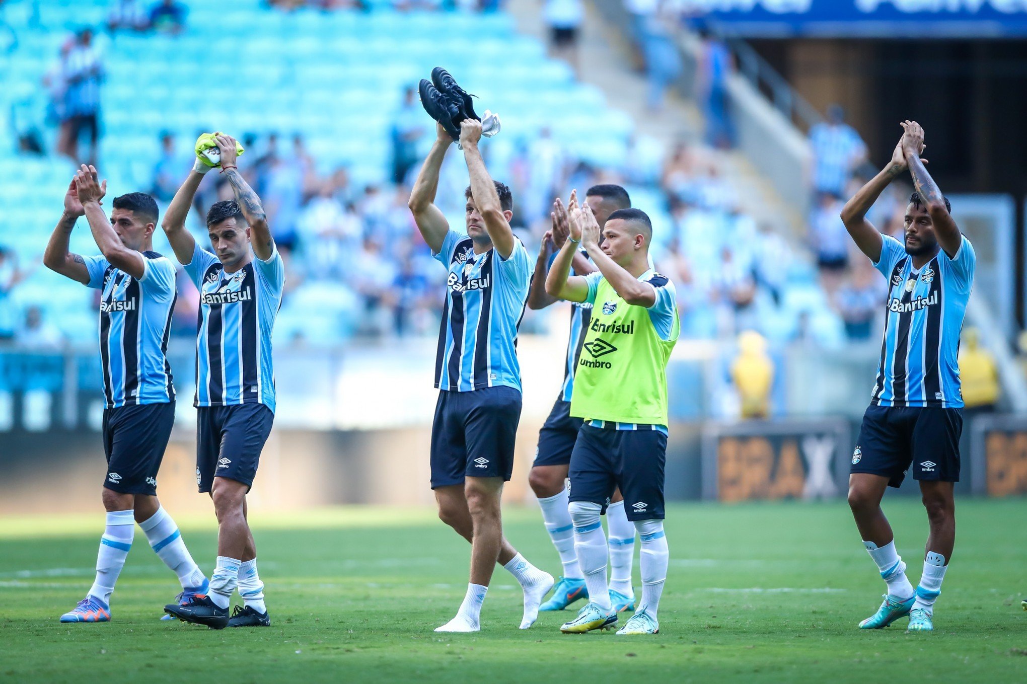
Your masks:
M 82 257 L 88 287 L 101 291 L 100 360 L 108 409 L 175 400 L 167 364 L 175 265 L 156 252 L 141 254 L 143 277 L 138 280 L 103 257 Z

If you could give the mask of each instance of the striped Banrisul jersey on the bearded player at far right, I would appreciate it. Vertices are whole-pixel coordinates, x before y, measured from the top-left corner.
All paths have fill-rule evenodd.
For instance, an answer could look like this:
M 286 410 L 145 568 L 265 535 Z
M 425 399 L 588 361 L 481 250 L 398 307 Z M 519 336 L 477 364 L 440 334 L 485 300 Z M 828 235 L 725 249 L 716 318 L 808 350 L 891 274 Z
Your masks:
M 961 408 L 957 356 L 974 286 L 974 246 L 964 236 L 954 257 L 939 250 L 914 271 L 902 242 L 881 237 L 881 259 L 874 268 L 888 279 L 888 299 L 872 403 Z

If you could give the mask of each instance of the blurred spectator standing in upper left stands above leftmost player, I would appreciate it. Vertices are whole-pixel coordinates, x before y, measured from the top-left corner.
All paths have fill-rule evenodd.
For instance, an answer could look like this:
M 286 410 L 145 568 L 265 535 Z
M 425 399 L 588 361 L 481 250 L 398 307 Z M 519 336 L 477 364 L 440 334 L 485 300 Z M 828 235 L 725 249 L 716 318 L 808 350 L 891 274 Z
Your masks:
M 83 29 L 64 61 L 64 107 L 58 151 L 78 163 L 78 141 L 82 132 L 89 135 L 89 154 L 84 161 L 97 162 L 100 139 L 100 84 L 104 65 L 92 44 L 92 30 Z

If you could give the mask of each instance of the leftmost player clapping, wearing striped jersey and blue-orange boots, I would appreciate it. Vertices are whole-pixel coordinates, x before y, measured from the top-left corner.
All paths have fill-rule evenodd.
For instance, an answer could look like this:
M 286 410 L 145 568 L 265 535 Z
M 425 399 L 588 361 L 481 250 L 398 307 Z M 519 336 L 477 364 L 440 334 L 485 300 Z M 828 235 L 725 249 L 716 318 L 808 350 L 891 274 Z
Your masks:
M 46 245 L 46 267 L 101 291 L 100 358 L 104 375 L 103 502 L 107 527 L 100 538 L 97 578 L 85 599 L 62 622 L 106 622 L 111 594 L 139 523 L 150 546 L 182 583 L 177 601 L 207 590 L 207 579 L 186 548 L 179 528 L 157 500 L 157 471 L 175 422 L 175 387 L 167 336 L 175 308 L 175 266 L 153 251 L 157 202 L 141 192 L 115 197 L 111 219 L 100 202 L 107 181 L 82 166 L 65 194 L 65 210 Z M 68 252 L 79 217 L 103 256 Z

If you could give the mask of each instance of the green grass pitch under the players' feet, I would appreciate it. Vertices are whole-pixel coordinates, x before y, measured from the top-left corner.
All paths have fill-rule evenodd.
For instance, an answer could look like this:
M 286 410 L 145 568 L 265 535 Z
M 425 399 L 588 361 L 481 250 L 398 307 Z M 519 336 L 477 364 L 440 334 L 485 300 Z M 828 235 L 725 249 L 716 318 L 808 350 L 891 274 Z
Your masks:
M 922 508 L 885 511 L 915 583 Z M 210 572 L 212 521 L 172 512 Z M 434 634 L 463 597 L 468 546 L 431 511 L 377 508 L 254 516 L 270 629 L 159 621 L 179 590 L 139 530 L 113 621 L 60 624 L 91 581 L 102 515 L 0 520 L 0 681 L 1027 681 L 1027 500 L 964 500 L 957 515 L 937 631 L 907 635 L 905 619 L 855 629 L 884 584 L 844 502 L 675 505 L 661 633 L 634 638 L 562 635 L 570 611 L 519 631 L 501 568 L 481 633 Z M 557 574 L 537 510 L 508 509 L 506 535 Z

